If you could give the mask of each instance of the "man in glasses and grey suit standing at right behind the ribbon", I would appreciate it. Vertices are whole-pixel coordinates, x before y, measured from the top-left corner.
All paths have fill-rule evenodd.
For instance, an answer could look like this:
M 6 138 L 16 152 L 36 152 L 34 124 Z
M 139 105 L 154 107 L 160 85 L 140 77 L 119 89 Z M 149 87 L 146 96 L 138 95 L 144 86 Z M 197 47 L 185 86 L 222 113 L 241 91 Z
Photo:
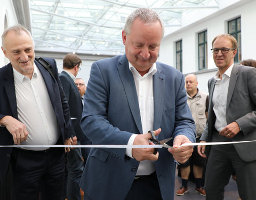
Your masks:
M 212 41 L 217 74 L 208 82 L 208 122 L 201 142 L 256 140 L 256 69 L 234 65 L 237 41 L 222 34 Z M 208 156 L 205 175 L 206 200 L 223 199 L 224 188 L 233 170 L 242 199 L 255 199 L 255 142 L 231 145 L 198 146 L 202 157 Z M 205 154 L 206 153 L 206 154 Z

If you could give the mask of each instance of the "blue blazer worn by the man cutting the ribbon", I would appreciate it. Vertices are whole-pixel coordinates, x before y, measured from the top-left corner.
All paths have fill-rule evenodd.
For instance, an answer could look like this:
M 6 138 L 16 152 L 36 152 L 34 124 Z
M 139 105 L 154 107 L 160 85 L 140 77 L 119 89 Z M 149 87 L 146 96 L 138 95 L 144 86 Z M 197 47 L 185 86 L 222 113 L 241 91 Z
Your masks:
M 187 105 L 183 75 L 157 62 L 153 76 L 154 130 L 158 139 L 186 135 L 194 142 L 195 124 Z M 81 127 L 93 144 L 127 145 L 133 133 L 142 134 L 134 78 L 126 55 L 94 62 L 85 93 Z M 175 163 L 167 149 L 158 149 L 156 173 L 163 199 L 174 195 Z M 81 179 L 81 188 L 91 199 L 124 199 L 139 162 L 125 149 L 93 148 Z

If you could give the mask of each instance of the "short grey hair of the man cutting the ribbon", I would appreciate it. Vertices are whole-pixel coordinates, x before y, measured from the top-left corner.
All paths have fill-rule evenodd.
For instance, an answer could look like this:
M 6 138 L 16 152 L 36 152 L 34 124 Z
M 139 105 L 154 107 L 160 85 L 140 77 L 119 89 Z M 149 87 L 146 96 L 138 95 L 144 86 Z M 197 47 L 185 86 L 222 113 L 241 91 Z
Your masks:
M 159 21 L 162 26 L 162 38 L 164 37 L 164 22 L 157 12 L 147 7 L 134 10 L 126 19 L 124 32 L 126 35 L 131 33 L 132 23 L 135 19 L 140 18 L 145 23 Z

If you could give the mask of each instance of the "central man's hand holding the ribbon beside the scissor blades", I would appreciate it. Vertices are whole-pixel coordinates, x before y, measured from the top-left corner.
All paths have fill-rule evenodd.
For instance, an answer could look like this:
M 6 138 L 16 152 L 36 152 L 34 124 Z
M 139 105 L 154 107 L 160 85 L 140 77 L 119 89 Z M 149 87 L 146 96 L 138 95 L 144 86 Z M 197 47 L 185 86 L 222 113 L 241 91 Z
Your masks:
M 188 158 L 193 153 L 193 146 L 180 147 L 183 143 L 191 143 L 191 141 L 185 135 L 178 135 L 174 138 L 173 148 L 168 151 L 173 155 L 173 158 L 179 163 L 186 163 Z

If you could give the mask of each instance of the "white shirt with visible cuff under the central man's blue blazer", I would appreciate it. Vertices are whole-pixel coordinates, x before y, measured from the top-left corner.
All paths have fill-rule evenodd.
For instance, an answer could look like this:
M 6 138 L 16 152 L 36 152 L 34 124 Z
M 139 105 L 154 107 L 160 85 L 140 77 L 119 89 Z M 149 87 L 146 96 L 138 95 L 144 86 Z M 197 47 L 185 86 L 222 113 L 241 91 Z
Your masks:
M 143 133 L 153 131 L 154 123 L 154 93 L 153 93 L 153 75 L 156 73 L 156 63 L 149 69 L 148 73 L 141 76 L 138 71 L 129 62 L 129 69 L 132 71 L 136 91 L 138 95 L 140 117 Z M 128 145 L 133 145 L 137 134 L 133 134 Z M 126 149 L 126 155 L 132 157 L 132 149 Z M 136 175 L 149 175 L 155 171 L 154 161 L 141 161 Z

